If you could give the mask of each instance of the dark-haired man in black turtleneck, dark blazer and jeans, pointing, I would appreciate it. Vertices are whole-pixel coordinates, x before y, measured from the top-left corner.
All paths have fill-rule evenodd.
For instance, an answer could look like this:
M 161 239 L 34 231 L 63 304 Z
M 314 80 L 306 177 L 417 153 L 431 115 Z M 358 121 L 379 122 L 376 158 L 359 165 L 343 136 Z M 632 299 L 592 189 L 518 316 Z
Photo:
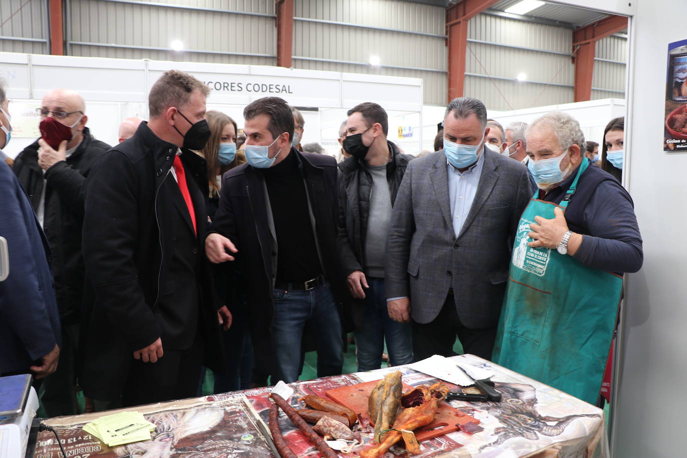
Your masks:
M 207 257 L 238 263 L 256 371 L 273 374 L 272 384 L 297 380 L 303 328 L 310 322 L 317 334 L 317 376 L 340 374 L 336 161 L 291 147 L 293 116 L 280 98 L 256 100 L 243 115 L 247 164 L 223 176 Z

